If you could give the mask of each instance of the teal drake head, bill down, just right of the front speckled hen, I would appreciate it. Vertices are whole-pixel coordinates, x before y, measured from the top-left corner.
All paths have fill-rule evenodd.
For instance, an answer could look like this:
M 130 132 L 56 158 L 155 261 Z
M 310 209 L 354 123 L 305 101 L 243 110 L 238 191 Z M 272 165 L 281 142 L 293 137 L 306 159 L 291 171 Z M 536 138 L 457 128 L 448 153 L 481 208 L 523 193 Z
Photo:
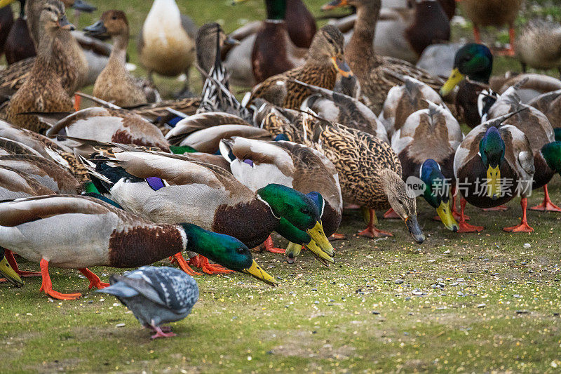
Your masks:
M 438 162 L 433 159 L 426 160 L 421 165 L 419 177 L 425 184 L 423 197 L 426 202 L 436 208 L 436 213 L 442 220 L 442 225 L 450 231 L 457 232 L 459 225 L 452 215 L 450 206 L 450 182 L 442 174 Z

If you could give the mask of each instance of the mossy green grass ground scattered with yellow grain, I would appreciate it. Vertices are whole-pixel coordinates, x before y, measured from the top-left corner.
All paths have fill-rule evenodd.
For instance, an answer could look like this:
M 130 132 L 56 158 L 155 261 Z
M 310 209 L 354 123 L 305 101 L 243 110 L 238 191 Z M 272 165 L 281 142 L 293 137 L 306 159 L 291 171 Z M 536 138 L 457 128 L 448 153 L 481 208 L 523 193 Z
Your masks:
M 133 33 L 150 6 L 93 3 L 102 10 L 124 7 Z M 316 14 L 322 3 L 306 1 Z M 222 19 L 227 31 L 264 16 L 260 0 L 206 4 L 181 1 L 180 8 L 199 25 Z M 98 15 L 84 15 L 79 25 Z M 462 32 L 468 31 L 454 35 Z M 137 62 L 133 41 L 129 53 Z M 499 58 L 495 74 L 506 69 L 518 67 Z M 180 86 L 173 79 L 158 84 Z M 557 203 L 560 187 L 556 176 L 550 192 Z M 534 192 L 529 206 L 542 196 Z M 471 222 L 485 231 L 454 234 L 431 220 L 434 210 L 419 199 L 428 236 L 422 245 L 398 221 L 380 222 L 395 234 L 391 239 L 358 238 L 362 219 L 346 212 L 340 232 L 349 239 L 335 243 L 336 265 L 323 267 L 309 253 L 294 265 L 281 255 L 255 253 L 278 277 L 278 288 L 243 274 L 197 276 L 201 298 L 187 319 L 173 324 L 178 336 L 167 340 L 150 341 L 126 308 L 89 291 L 74 270 L 53 268 L 51 277 L 56 290 L 83 292 L 77 301 L 49 300 L 39 293 L 39 279 L 20 289 L 0 284 L 0 372 L 557 372 L 561 215 L 530 212 L 534 234 L 507 234 L 501 227 L 520 217 L 518 199 L 508 206 L 505 213 L 468 207 Z M 39 269 L 25 260 L 21 265 Z M 105 281 L 116 271 L 92 270 Z M 432 288 L 438 282 L 443 288 Z M 414 295 L 417 290 L 423 295 Z

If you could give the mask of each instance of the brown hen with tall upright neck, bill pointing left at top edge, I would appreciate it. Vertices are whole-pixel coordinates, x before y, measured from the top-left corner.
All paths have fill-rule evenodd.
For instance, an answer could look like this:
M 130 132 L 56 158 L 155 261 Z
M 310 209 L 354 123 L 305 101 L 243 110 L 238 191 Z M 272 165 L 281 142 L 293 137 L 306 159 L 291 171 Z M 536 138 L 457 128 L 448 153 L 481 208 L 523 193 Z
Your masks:
M 374 30 L 380 13 L 380 0 L 333 0 L 323 9 L 355 6 L 357 19 L 353 36 L 345 49 L 346 59 L 356 75 L 363 94 L 370 100 L 374 114 L 381 112 L 388 91 L 399 83 L 386 70 L 403 76 L 412 76 L 432 88 L 440 88 L 442 82 L 409 62 L 396 58 L 380 57 L 374 52 Z

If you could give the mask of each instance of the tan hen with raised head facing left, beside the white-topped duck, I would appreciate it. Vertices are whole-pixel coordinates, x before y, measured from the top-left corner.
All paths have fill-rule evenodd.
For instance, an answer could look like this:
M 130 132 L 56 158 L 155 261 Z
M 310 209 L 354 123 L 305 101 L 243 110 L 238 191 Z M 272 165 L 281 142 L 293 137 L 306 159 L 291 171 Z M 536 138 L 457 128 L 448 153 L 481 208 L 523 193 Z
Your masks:
M 126 68 L 129 27 L 123 11 L 105 11 L 99 21 L 84 31 L 91 36 L 111 36 L 113 40 L 109 62 L 93 85 L 95 97 L 119 107 L 134 107 L 158 100 L 158 92 L 144 90 L 146 82 L 135 78 Z

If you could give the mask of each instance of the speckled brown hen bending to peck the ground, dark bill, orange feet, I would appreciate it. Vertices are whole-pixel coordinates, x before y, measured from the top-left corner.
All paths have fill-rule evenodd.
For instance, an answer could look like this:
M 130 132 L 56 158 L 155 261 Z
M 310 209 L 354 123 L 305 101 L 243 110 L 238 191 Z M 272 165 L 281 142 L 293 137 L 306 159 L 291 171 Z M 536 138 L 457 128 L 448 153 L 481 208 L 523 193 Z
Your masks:
M 418 243 L 425 240 L 415 199 L 407 194 L 398 155 L 388 143 L 339 123 L 311 121 L 307 132 L 313 134 L 308 142 L 334 164 L 343 200 L 363 207 L 368 226 L 360 236 L 392 236 L 374 227 L 374 210 L 393 208 L 413 239 Z

